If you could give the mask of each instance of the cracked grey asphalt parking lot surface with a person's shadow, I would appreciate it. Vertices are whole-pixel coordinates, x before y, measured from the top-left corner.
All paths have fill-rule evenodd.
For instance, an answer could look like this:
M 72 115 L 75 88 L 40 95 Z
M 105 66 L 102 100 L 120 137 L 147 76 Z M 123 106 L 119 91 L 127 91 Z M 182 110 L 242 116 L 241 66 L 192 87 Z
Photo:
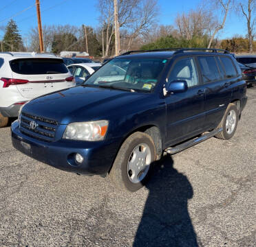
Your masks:
M 164 158 L 136 193 L 34 161 L 0 129 L 0 246 L 256 246 L 256 87 L 247 92 L 233 139 Z

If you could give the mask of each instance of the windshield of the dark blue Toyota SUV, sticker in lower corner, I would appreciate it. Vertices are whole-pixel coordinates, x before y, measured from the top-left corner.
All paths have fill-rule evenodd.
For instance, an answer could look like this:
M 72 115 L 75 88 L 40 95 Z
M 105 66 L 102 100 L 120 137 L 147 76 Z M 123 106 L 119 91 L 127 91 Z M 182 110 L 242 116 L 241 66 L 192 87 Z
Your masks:
M 84 85 L 152 91 L 166 63 L 167 60 L 161 58 L 115 58 L 100 67 Z

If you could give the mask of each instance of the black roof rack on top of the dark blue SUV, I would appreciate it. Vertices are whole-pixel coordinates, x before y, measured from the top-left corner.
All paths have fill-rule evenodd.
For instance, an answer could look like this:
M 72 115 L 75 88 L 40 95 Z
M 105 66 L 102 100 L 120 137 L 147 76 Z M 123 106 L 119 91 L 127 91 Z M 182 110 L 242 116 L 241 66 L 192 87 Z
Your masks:
M 163 48 L 163 49 L 152 49 L 152 50 L 136 50 L 136 51 L 127 51 L 120 56 L 129 55 L 132 53 L 143 53 L 143 52 L 152 52 L 152 51 L 175 51 L 174 54 L 179 54 L 184 51 L 211 51 L 211 52 L 220 52 L 222 51 L 224 54 L 229 54 L 229 51 L 224 49 L 215 49 L 215 48 Z

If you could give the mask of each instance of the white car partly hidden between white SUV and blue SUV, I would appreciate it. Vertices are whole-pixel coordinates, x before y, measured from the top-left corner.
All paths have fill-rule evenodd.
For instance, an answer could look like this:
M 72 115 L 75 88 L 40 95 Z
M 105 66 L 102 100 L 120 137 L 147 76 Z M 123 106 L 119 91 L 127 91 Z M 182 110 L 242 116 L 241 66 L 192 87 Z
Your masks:
M 99 69 L 101 65 L 102 64 L 96 62 L 72 64 L 67 66 L 67 69 L 69 69 L 70 73 L 74 76 L 76 85 L 81 85 L 89 75 L 92 75 L 92 73 Z

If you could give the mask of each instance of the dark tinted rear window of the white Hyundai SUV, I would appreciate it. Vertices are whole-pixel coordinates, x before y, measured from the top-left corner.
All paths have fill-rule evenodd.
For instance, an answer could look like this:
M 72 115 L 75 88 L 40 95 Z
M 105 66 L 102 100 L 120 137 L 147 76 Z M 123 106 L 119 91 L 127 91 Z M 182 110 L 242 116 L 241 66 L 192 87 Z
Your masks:
M 61 59 L 22 58 L 10 61 L 13 72 L 23 75 L 42 75 L 67 73 L 67 67 Z

